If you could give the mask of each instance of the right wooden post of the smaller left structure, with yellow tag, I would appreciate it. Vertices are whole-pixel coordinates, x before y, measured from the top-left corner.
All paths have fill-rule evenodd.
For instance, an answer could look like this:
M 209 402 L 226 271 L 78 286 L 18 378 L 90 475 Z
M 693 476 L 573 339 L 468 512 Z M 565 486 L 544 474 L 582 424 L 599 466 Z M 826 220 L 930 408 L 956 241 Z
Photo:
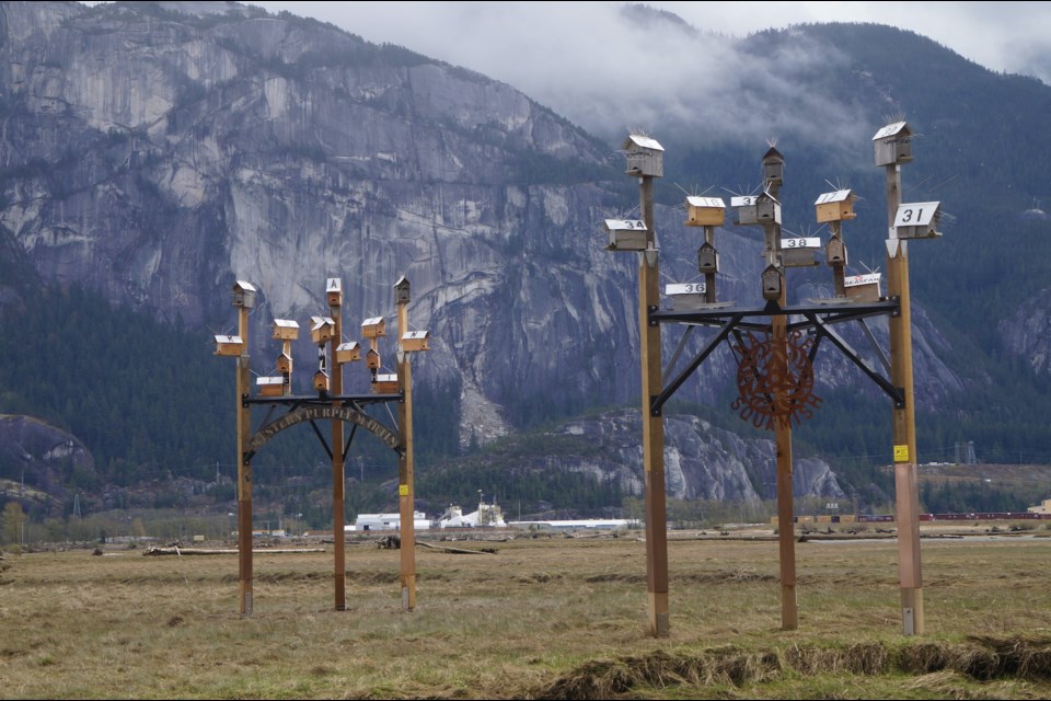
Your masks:
M 397 405 L 397 427 L 403 453 L 397 461 L 397 505 L 401 517 L 402 608 L 416 608 L 416 497 L 413 486 L 413 378 L 409 356 L 402 340 L 408 332 L 408 280 L 402 278 L 395 292 L 397 306 L 397 379 L 402 402 Z

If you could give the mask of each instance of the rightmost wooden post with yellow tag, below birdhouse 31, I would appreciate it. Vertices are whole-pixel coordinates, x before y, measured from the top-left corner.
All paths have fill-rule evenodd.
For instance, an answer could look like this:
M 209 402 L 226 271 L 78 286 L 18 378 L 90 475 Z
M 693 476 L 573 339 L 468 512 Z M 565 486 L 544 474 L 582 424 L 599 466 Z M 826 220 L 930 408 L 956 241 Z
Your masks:
M 894 499 L 898 519 L 898 568 L 902 632 L 922 635 L 923 576 L 920 566 L 920 490 L 916 470 L 916 420 L 912 377 L 912 311 L 909 297 L 908 241 L 898 238 L 894 219 L 901 204 L 901 165 L 887 165 L 887 292 L 899 314 L 890 318 L 891 382 L 903 402 L 893 407 Z

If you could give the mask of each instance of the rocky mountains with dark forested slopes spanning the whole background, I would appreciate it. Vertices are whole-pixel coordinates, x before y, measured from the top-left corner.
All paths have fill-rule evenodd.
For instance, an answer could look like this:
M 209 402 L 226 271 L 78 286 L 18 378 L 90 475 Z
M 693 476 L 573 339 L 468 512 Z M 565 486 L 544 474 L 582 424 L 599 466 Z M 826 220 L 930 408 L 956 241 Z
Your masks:
M 645 31 L 655 39 L 674 31 L 704 41 L 668 26 L 655 22 Z M 617 153 L 624 134 L 598 138 L 484 76 L 238 3 L 8 2 L 0 4 L 0 320 L 59 303 L 61 294 L 37 296 L 58 284 L 96 299 L 100 313 L 125 319 L 132 334 L 166 333 L 145 320 L 185 330 L 200 356 L 180 360 L 183 371 L 198 363 L 226 368 L 210 356 L 210 338 L 232 329 L 230 289 L 245 279 L 261 290 L 251 321 L 253 366 L 269 374 L 280 352 L 267 341 L 272 319 L 302 325 L 326 312 L 326 278 L 342 278 L 345 327 L 353 331 L 360 320 L 393 312 L 391 286 L 406 275 L 409 321 L 434 340 L 414 366 L 414 381 L 423 392 L 418 421 L 425 428 L 430 421 L 430 435 L 446 439 L 436 462 L 541 426 L 575 430 L 581 414 L 599 407 L 613 411 L 604 427 L 589 423 L 586 433 L 631 435 L 622 430 L 620 407 L 637 405 L 639 394 L 636 261 L 605 251 L 600 233 L 603 219 L 637 206 Z M 1023 216 L 1048 182 L 1049 165 L 1032 156 L 1051 138 L 1037 128 L 1051 108 L 1051 89 L 990 73 L 923 37 L 881 26 L 796 27 L 750 36 L 737 48 L 766 72 L 755 92 L 734 95 L 735 105 L 755 107 L 783 127 L 777 148 L 797 177 L 784 188 L 786 227 L 805 232 L 811 203 L 831 189 L 824 180 L 847 179 L 863 197 L 862 216 L 847 226 L 852 261 L 878 266 L 886 228 L 871 135 L 887 113 L 901 111 L 923 135 L 916 162 L 906 166 L 906 194 L 924 183 L 932 191 L 924 196 L 936 192 L 955 221 L 944 240 L 917 243 L 912 256 L 921 452 L 977 439 L 980 450 L 1009 456 L 1025 446 L 1051 456 L 1051 441 L 1036 433 L 1037 411 L 1051 395 L 1039 360 L 1040 310 L 1027 306 L 1048 289 L 1049 223 Z M 823 60 L 801 70 L 785 59 L 799 53 Z M 770 88 L 776 93 L 763 92 Z M 711 102 L 711 95 L 694 99 Z M 698 242 L 682 227 L 682 191 L 674 185 L 754 187 L 769 136 L 705 142 L 688 113 L 651 129 L 667 149 L 657 211 L 662 269 L 678 280 L 695 276 Z M 718 245 L 720 297 L 757 299 L 755 232 L 727 226 Z M 823 266 L 790 285 L 800 298 L 828 296 L 831 287 Z M 109 319 L 95 326 L 112 329 L 112 344 L 124 330 Z M 1001 323 L 1024 333 L 1007 334 Z M 11 347 L 39 349 L 36 357 L 54 352 L 46 333 L 4 329 Z M 885 321 L 871 330 L 886 340 Z M 666 334 L 669 355 L 678 335 Z M 868 343 L 861 332 L 851 341 Z M 78 357 L 108 355 L 100 350 L 106 341 L 96 343 L 92 354 L 72 354 L 73 370 Z M 129 383 L 132 394 L 153 381 L 146 368 L 169 358 L 149 338 L 125 345 L 140 348 L 117 370 L 141 378 Z M 701 342 L 685 347 L 696 350 Z M 393 348 L 381 352 L 390 363 Z M 294 348 L 300 391 L 308 391 L 314 355 L 305 340 Z M 808 474 L 824 476 L 797 487 L 839 495 L 833 473 L 850 471 L 844 461 L 889 457 L 889 410 L 842 357 L 822 352 L 819 360 L 825 405 L 852 412 L 819 412 L 801 427 L 798 458 L 812 455 L 823 467 Z M 720 350 L 677 394 L 673 411 L 684 413 L 671 424 L 669 451 L 696 458 L 683 471 L 677 492 L 683 497 L 764 495 L 755 475 L 769 449 L 737 446 L 713 457 L 716 437 L 690 409 L 725 411 L 736 365 Z M 232 421 L 222 423 L 232 412 L 232 368 L 223 376 L 228 388 L 197 383 L 212 377 L 207 371 L 194 375 L 194 390 L 177 374 L 165 376 L 166 390 L 151 389 L 155 411 L 138 404 L 132 411 L 117 399 L 105 404 L 111 423 L 137 426 L 163 411 L 169 425 L 185 424 L 189 436 L 199 426 L 209 436 L 194 446 L 181 434 L 168 445 L 165 423 L 154 422 L 135 432 L 137 472 L 186 473 L 204 470 L 209 453 L 211 460 L 233 455 Z M 103 482 L 124 470 L 120 432 L 106 437 L 91 426 L 100 410 L 61 400 L 62 393 L 104 397 L 90 384 L 99 374 L 71 372 L 58 391 L 42 393 L 47 401 L 33 389 L 48 382 L 47 372 L 9 372 L 2 381 L 0 412 L 43 415 L 79 437 L 97 436 L 88 447 Z M 363 371 L 356 374 L 351 390 L 366 381 Z M 184 405 L 196 409 L 174 409 Z M 552 429 L 551 422 L 568 423 Z M 211 438 L 222 425 L 231 435 Z M 630 492 L 639 468 L 616 445 L 610 455 L 620 458 L 600 472 L 622 475 Z M 713 461 L 740 459 L 738 450 L 758 456 L 754 464 L 712 476 Z M 574 469 L 585 462 L 575 459 Z

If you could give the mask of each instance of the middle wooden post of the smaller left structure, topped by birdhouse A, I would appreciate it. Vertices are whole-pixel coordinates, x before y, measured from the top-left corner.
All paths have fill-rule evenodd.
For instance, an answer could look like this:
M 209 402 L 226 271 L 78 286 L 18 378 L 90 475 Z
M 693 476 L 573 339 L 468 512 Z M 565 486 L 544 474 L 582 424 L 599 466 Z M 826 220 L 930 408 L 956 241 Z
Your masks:
M 328 341 L 328 367 L 332 374 L 332 394 L 343 394 L 343 365 L 336 363 L 336 348 L 343 338 L 343 286 L 339 278 L 330 278 L 326 284 L 328 315 L 335 325 Z M 339 407 L 339 400 L 333 399 L 332 405 Z M 345 461 L 343 455 L 343 420 L 332 420 L 332 542 L 334 553 L 334 597 L 337 611 L 347 608 L 347 560 L 346 560 L 346 490 Z

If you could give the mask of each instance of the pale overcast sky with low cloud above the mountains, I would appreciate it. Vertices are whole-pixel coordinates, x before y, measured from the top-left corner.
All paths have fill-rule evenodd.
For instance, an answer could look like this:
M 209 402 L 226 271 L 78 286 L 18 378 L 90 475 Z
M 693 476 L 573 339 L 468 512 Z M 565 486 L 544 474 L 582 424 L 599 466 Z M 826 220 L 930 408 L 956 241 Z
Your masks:
M 801 128 L 787 122 L 786 110 L 740 104 L 741 82 L 754 88 L 771 73 L 771 61 L 784 78 L 838 57 L 806 47 L 792 55 L 742 56 L 729 39 L 811 22 L 899 26 L 992 70 L 1037 76 L 1051 84 L 1051 2 L 644 3 L 720 36 L 675 31 L 674 23 L 638 31 L 621 8 L 640 3 L 622 1 L 249 4 L 312 16 L 368 42 L 397 44 L 470 68 L 597 134 L 646 128 L 658 110 L 662 123 L 678 113 L 683 120 L 704 124 L 712 138 Z M 777 89 L 770 83 L 769 90 Z M 786 91 L 783 101 L 789 100 L 809 100 L 813 104 L 802 105 L 802 112 L 824 115 L 824 124 L 811 128 L 834 128 L 844 138 L 851 138 L 844 129 L 858 128 L 843 105 Z M 698 114 L 705 110 L 711 112 Z

